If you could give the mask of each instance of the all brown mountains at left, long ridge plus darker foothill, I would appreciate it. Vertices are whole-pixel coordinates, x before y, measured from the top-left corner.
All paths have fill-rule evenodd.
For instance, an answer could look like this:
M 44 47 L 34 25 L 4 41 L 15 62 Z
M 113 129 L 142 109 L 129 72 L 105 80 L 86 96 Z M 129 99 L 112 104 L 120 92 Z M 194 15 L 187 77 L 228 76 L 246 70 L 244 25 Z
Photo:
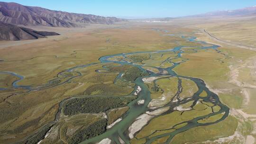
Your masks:
M 0 2 L 0 40 L 37 39 L 59 35 L 55 32 L 38 32 L 24 26 L 81 27 L 83 24 L 113 24 L 126 21 L 115 17 L 69 13 L 23 6 L 14 2 Z M 17 26 L 19 25 L 19 26 Z

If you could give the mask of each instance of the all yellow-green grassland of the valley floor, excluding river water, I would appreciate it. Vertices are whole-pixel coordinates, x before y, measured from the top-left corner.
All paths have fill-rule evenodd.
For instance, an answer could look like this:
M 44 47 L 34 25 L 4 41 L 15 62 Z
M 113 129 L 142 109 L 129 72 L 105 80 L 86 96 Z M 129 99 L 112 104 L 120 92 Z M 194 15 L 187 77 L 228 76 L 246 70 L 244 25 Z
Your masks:
M 48 86 L 43 90 L 29 92 L 28 90 L 13 89 L 11 84 L 12 81 L 17 80 L 17 77 L 1 74 L 0 88 L 6 88 L 7 90 L 0 91 L 0 114 L 2 116 L 0 117 L 0 144 L 15 143 L 36 132 L 39 132 L 38 135 L 29 137 L 30 139 L 27 140 L 31 142 L 38 141 L 42 139 L 42 135 L 45 135 L 49 129 L 51 129 L 49 137 L 46 137 L 41 144 L 78 143 L 81 140 L 103 133 L 108 124 L 123 116 L 128 109 L 124 106 L 135 97 L 127 100 L 119 99 L 119 96 L 123 98 L 123 96 L 130 95 L 135 87 L 134 80 L 137 77 L 148 74 L 132 65 L 99 63 L 101 56 L 138 51 L 165 50 L 179 45 L 201 45 L 200 43 L 184 40 L 181 34 L 186 36 L 195 35 L 201 40 L 217 43 L 207 36 L 196 34 L 200 33 L 200 30 L 196 28 L 174 26 L 170 23 L 161 25 L 139 24 L 136 27 L 134 25 L 130 24 L 129 27 L 119 27 L 118 25 L 104 26 L 105 28 L 102 26 L 103 28 L 101 27 L 100 29 L 93 26 L 90 26 L 91 29 L 64 29 L 65 31 L 71 31 L 66 33 L 57 29 L 60 30 L 60 33 L 63 32 L 63 35 L 56 36 L 54 39 L 46 39 L 44 43 L 42 43 L 42 40 L 35 40 L 27 44 L 20 42 L 20 44 L 9 47 L 6 47 L 6 42 L 2 43 L 5 47 L 0 48 L 0 57 L 3 60 L 0 62 L 1 71 L 15 72 L 24 76 L 24 80 L 19 81 L 18 85 L 38 87 L 41 84 L 47 84 L 47 81 L 50 80 L 56 80 L 55 83 L 61 83 L 77 74 L 74 72 L 64 72 L 66 69 L 89 63 L 97 64 L 73 69 L 73 71 L 79 72 L 81 76 L 74 77 L 68 82 L 55 85 L 54 87 Z M 247 25 L 243 24 L 243 26 Z M 228 24 L 225 24 L 223 28 L 229 29 L 227 26 Z M 232 24 L 232 26 L 236 25 Z M 206 26 L 202 24 L 202 27 Z M 216 36 L 222 36 L 224 32 L 226 33 L 226 30 L 222 30 L 220 27 L 210 27 L 210 25 L 207 27 Z M 176 36 L 162 36 L 165 32 L 152 30 L 153 28 L 166 29 L 169 33 L 176 34 Z M 227 31 L 230 31 L 230 29 Z M 241 32 L 241 29 L 238 29 L 235 34 L 238 35 L 239 32 Z M 223 36 L 221 37 L 223 39 L 228 37 L 227 40 L 237 40 L 237 37 L 230 37 L 232 36 L 230 33 Z M 241 38 L 239 43 L 254 45 L 253 39 L 244 40 Z M 177 58 L 177 54 L 170 52 L 168 54 L 155 53 L 150 55 L 131 54 L 126 58 L 116 57 L 115 60 L 126 60 L 139 65 L 145 64 L 144 68 L 154 73 L 160 71 L 152 69 L 150 66 L 166 68 L 172 66 L 173 63 L 186 61 L 174 68 L 174 71 L 179 75 L 201 78 L 205 81 L 207 87 L 217 93 L 221 101 L 228 105 L 229 108 L 244 108 L 244 112 L 254 115 L 255 98 L 251 98 L 247 106 L 245 106 L 245 97 L 241 94 L 241 90 L 244 89 L 229 81 L 233 79 L 230 76 L 232 71 L 230 65 L 233 65 L 240 72 L 237 78 L 238 81 L 243 81 L 250 85 L 254 84 L 254 79 L 251 79 L 253 75 L 250 69 L 252 63 L 249 63 L 252 60 L 248 60 L 248 58 L 255 56 L 256 53 L 229 45 L 222 45 L 218 50 L 197 50 L 198 52 L 195 53 L 195 50 L 187 47 L 184 48 L 186 53 L 182 54 L 183 58 Z M 166 59 L 168 61 L 165 61 Z M 244 62 L 247 62 L 248 66 L 240 67 Z M 58 76 L 60 72 L 63 72 L 62 76 Z M 120 73 L 123 73 L 123 75 L 116 79 Z M 157 104 L 159 104 L 158 106 L 164 106 L 177 92 L 179 80 L 176 77 L 158 78 L 154 82 L 145 83 L 151 91 L 152 101 L 155 99 Z M 181 79 L 181 81 L 183 91 L 180 97 L 182 99 L 191 97 L 198 90 L 192 81 L 187 79 Z M 248 93 L 254 95 L 256 91 L 249 88 Z M 41 129 L 42 126 L 55 119 L 59 103 L 62 100 L 81 95 L 93 95 L 95 98 L 87 98 L 82 101 L 78 99 L 83 98 L 71 99 L 69 101 L 70 105 L 67 105 L 66 109 L 64 109 L 64 113 L 67 112 L 67 109 L 70 110 L 66 113 L 69 116 L 61 117 L 59 123 L 52 128 Z M 102 97 L 106 95 L 110 95 L 110 97 Z M 159 103 L 163 95 L 165 100 L 162 100 L 163 103 Z M 201 97 L 204 98 L 205 93 L 202 93 Z M 183 108 L 191 107 L 192 102 L 182 105 Z M 153 106 L 156 105 L 153 103 Z M 124 108 L 119 109 L 120 107 Z M 10 109 L 12 110 L 10 111 Z M 73 111 L 74 109 L 75 111 Z M 213 111 L 218 111 L 218 109 L 216 106 L 213 107 Z M 102 116 L 103 112 L 107 114 L 108 120 Z M 144 144 L 146 142 L 144 137 L 146 136 L 153 137 L 174 131 L 173 128 L 180 128 L 186 125 L 186 123 L 177 126 L 175 124 L 209 113 L 212 113 L 212 108 L 199 102 L 192 110 L 184 112 L 175 110 L 164 116 L 156 117 L 137 133 L 136 137 L 141 139 L 136 140 L 134 138 L 131 140 L 131 144 Z M 220 117 L 221 115 L 217 115 L 199 122 L 213 122 Z M 252 135 L 251 131 L 253 130 L 250 128 L 250 121 L 245 124 L 241 123 L 239 118 L 229 116 L 218 124 L 195 127 L 180 133 L 174 136 L 172 143 L 201 143 L 207 140 L 227 137 L 235 133 L 239 124 L 242 125 L 240 129 L 243 129 L 243 126 L 246 127 L 243 136 Z M 169 130 L 165 130 L 166 127 Z M 163 137 L 157 139 L 154 143 L 161 144 L 167 139 L 168 137 Z

